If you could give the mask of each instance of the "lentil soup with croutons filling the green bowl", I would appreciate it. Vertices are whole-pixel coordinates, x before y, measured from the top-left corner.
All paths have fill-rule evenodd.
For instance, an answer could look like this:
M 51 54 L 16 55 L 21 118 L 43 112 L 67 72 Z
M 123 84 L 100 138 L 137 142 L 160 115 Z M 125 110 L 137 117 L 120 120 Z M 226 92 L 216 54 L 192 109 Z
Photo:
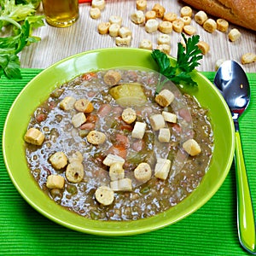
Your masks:
M 213 148 L 207 109 L 193 96 L 159 73 L 121 68 L 56 88 L 25 141 L 32 177 L 51 200 L 108 221 L 176 206 L 200 184 Z

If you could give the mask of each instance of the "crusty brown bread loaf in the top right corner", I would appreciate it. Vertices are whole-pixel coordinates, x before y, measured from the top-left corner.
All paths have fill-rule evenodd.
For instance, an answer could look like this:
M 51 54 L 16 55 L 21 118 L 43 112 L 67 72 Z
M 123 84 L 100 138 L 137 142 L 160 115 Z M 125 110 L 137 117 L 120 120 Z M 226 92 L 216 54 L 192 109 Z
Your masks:
M 256 31 L 256 0 L 183 0 L 195 9 Z

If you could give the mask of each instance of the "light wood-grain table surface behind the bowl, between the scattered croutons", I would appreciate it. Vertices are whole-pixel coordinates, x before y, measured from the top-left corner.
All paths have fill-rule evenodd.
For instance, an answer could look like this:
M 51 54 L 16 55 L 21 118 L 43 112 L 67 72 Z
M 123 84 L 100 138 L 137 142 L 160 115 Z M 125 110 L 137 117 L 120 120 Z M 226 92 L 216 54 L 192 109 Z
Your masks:
M 160 3 L 166 8 L 166 12 L 180 14 L 180 9 L 185 5 L 181 1 L 175 0 L 148 0 L 148 9 L 152 9 L 154 3 Z M 102 16 L 98 20 L 90 18 L 90 3 L 79 4 L 79 20 L 67 28 L 56 28 L 45 24 L 45 26 L 34 31 L 34 35 L 41 38 L 38 44 L 32 44 L 20 54 L 21 67 L 45 68 L 56 61 L 60 61 L 70 55 L 75 55 L 90 49 L 117 47 L 114 38 L 109 35 L 100 35 L 97 26 L 102 21 L 108 21 L 111 15 L 119 15 L 123 18 L 122 26 L 131 29 L 131 47 L 137 48 L 142 39 L 151 40 L 154 48 L 157 45 L 157 38 L 160 32 L 145 32 L 144 26 L 138 26 L 131 22 L 131 14 L 136 11 L 136 0 L 107 0 L 106 8 L 102 11 Z M 193 9 L 194 15 L 197 10 Z M 42 8 L 38 9 L 38 14 L 42 13 Z M 217 18 L 214 18 L 217 20 Z M 230 24 L 231 28 L 236 27 L 241 32 L 241 38 L 236 42 L 230 42 L 228 33 L 215 31 L 206 32 L 202 26 L 192 20 L 192 25 L 196 27 L 197 34 L 201 40 L 210 45 L 210 51 L 201 61 L 200 71 L 214 71 L 216 61 L 220 59 L 233 59 L 241 63 L 241 55 L 247 52 L 256 54 L 255 32 L 249 31 L 239 26 Z M 180 41 L 181 34 L 171 33 L 172 49 L 170 55 L 177 55 L 177 42 Z M 256 72 L 256 62 L 243 65 L 248 73 Z

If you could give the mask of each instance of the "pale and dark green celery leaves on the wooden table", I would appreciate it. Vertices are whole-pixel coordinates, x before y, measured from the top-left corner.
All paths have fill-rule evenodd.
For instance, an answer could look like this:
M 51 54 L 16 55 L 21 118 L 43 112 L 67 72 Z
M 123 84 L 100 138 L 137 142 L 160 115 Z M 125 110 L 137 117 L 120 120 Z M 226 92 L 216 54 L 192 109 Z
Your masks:
M 29 1 L 27 1 L 29 2 Z M 31 3 L 15 4 L 15 0 L 0 0 L 0 32 L 8 31 L 0 38 L 0 78 L 20 79 L 18 53 L 26 46 L 40 40 L 32 36 L 32 30 L 44 26 L 44 16 L 34 15 Z

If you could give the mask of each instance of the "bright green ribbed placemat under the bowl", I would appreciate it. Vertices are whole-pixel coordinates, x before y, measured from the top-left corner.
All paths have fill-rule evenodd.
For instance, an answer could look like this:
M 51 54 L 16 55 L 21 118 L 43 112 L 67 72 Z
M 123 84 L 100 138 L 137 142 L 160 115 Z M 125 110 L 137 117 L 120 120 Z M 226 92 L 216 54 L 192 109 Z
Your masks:
M 0 79 L 0 132 L 20 90 L 41 70 L 22 69 L 23 79 Z M 204 73 L 212 80 L 214 73 Z M 256 207 L 256 73 L 248 73 L 252 100 L 241 117 L 241 140 Z M 15 134 L 14 134 L 15 136 Z M 91 236 L 45 218 L 16 191 L 0 154 L 0 255 L 247 255 L 236 230 L 234 165 L 206 205 L 162 230 L 125 237 Z

